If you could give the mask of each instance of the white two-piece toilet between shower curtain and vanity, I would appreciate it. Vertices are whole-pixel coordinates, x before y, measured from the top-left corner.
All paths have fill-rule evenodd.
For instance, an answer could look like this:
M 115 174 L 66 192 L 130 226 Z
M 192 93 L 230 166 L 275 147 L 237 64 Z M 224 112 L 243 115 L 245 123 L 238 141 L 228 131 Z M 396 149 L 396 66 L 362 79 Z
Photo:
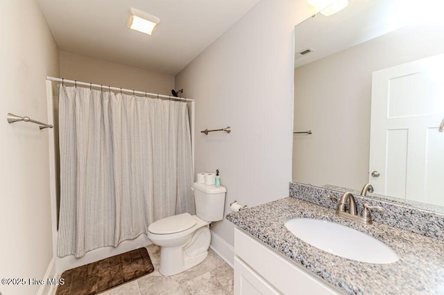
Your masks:
M 196 215 L 182 213 L 148 226 L 148 238 L 160 246 L 159 272 L 173 276 L 203 262 L 208 255 L 210 223 L 223 220 L 226 188 L 193 184 Z

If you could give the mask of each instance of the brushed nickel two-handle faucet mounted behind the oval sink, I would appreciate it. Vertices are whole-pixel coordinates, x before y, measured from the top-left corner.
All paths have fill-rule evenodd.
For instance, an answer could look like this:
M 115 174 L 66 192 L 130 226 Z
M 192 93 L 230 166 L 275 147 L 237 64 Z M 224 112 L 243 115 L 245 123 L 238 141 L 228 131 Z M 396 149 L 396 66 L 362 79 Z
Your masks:
M 366 184 L 364 188 L 366 191 L 368 186 L 371 187 L 370 184 Z M 373 189 L 373 188 L 372 188 Z M 364 189 L 363 189 L 364 190 Z M 368 190 L 370 191 L 370 190 Z M 348 205 L 348 209 L 346 206 Z M 370 206 L 368 204 L 364 204 L 364 209 L 361 211 L 361 215 L 359 216 L 356 209 L 356 200 L 352 193 L 345 192 L 343 193 L 341 199 L 339 199 L 338 209 L 336 210 L 336 215 L 341 217 L 348 218 L 350 220 L 355 220 L 358 222 L 362 222 L 365 224 L 372 224 L 372 217 L 370 215 L 370 210 L 377 210 L 384 212 L 385 209 L 379 206 Z

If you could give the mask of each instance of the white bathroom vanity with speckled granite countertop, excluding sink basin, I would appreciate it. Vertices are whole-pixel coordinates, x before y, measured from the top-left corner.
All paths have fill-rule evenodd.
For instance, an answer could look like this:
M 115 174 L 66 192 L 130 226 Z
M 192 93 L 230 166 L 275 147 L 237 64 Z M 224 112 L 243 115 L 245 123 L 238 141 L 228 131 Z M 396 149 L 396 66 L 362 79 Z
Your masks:
M 332 202 L 327 195 L 316 198 Z M 360 209 L 361 201 L 357 197 Z M 378 204 L 384 206 L 381 202 Z M 391 216 L 390 212 L 387 214 Z M 327 253 L 303 242 L 284 226 L 288 220 L 298 217 L 327 220 L 366 233 L 393 249 L 399 260 L 375 264 Z M 362 224 L 346 220 L 337 216 L 334 208 L 298 197 L 230 213 L 226 218 L 236 225 L 235 294 L 444 293 L 442 236 L 430 238 L 377 221 Z M 439 223 L 444 217 L 437 218 Z M 442 231 L 443 224 L 438 226 Z

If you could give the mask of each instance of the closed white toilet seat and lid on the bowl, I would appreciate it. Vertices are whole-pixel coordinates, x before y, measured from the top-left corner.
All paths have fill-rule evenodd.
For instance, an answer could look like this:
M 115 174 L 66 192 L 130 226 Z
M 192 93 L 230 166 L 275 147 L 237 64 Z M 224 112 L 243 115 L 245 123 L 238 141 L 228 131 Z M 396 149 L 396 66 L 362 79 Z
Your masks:
M 169 235 L 191 229 L 197 223 L 189 213 L 182 213 L 157 220 L 148 226 L 148 231 L 157 235 Z

